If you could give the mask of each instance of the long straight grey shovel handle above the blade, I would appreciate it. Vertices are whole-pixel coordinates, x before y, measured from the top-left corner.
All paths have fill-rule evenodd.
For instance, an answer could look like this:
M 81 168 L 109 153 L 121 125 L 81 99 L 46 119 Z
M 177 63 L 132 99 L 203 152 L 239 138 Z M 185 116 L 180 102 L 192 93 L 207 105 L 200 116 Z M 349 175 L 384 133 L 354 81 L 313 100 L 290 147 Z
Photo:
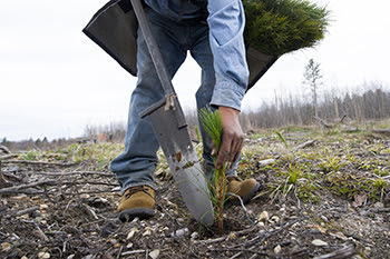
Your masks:
M 137 17 L 140 30 L 144 34 L 146 46 L 149 50 L 152 61 L 155 64 L 157 76 L 164 88 L 165 96 L 174 96 L 176 94 L 175 89 L 172 84 L 170 77 L 164 63 L 163 56 L 158 49 L 157 42 L 153 37 L 152 29 L 146 18 L 144 7 L 140 0 L 130 0 L 130 1 L 133 4 L 134 12 Z

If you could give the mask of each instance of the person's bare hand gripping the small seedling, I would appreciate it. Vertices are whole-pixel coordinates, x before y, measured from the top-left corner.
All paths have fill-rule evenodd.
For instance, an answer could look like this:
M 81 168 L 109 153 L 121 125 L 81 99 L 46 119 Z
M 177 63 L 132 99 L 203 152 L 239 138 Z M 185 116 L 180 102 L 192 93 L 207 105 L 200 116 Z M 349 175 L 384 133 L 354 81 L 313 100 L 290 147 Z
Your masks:
M 218 111 L 222 119 L 222 136 L 215 168 L 221 169 L 222 165 L 226 162 L 226 167 L 230 169 L 233 162 L 238 159 L 241 149 L 243 148 L 244 132 L 240 126 L 238 110 L 228 107 L 220 107 Z M 215 156 L 215 153 L 216 149 L 214 148 L 212 156 Z

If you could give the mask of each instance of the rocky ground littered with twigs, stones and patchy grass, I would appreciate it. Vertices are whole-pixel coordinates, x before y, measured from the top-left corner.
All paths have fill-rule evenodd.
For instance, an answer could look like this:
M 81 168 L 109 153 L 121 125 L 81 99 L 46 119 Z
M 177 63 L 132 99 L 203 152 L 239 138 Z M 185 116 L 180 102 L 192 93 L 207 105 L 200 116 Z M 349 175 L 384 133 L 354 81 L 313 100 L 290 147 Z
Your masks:
M 384 135 L 248 136 L 240 173 L 262 188 L 245 207 L 226 203 L 223 233 L 191 217 L 164 159 L 156 216 L 118 221 L 109 159 L 94 152 L 110 146 L 0 153 L 0 258 L 390 258 Z

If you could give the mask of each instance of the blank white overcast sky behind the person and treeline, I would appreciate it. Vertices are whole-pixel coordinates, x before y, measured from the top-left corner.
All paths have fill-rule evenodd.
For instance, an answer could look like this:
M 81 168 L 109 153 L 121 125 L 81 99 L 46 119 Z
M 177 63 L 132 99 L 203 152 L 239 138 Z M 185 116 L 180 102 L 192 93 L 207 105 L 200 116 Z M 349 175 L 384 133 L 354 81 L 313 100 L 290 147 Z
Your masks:
M 305 94 L 309 59 L 321 64 L 324 87 L 347 91 L 364 82 L 390 86 L 390 1 L 318 0 L 332 11 L 315 49 L 280 58 L 250 90 L 244 110 L 275 93 Z M 0 2 L 0 141 L 70 138 L 87 124 L 126 121 L 136 78 L 82 32 L 105 0 Z M 174 79 L 184 109 L 195 108 L 199 69 L 187 58 Z

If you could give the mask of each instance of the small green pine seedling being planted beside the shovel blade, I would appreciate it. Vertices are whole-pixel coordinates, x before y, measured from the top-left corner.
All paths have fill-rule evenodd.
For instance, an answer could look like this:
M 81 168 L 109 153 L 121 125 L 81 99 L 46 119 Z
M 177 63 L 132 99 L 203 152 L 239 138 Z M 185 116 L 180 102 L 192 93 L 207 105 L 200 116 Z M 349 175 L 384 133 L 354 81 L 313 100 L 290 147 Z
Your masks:
M 213 157 L 214 165 L 216 162 L 216 158 L 218 157 L 220 148 L 221 148 L 221 135 L 222 135 L 222 119 L 218 110 L 212 111 L 209 107 L 203 108 L 199 110 L 199 119 L 203 129 L 214 141 L 216 147 L 215 157 Z M 214 169 L 211 188 L 211 201 L 215 207 L 216 218 L 218 220 L 218 230 L 223 232 L 223 206 L 226 201 L 226 189 L 227 189 L 227 179 L 225 176 L 225 165 L 223 165 L 220 169 Z

